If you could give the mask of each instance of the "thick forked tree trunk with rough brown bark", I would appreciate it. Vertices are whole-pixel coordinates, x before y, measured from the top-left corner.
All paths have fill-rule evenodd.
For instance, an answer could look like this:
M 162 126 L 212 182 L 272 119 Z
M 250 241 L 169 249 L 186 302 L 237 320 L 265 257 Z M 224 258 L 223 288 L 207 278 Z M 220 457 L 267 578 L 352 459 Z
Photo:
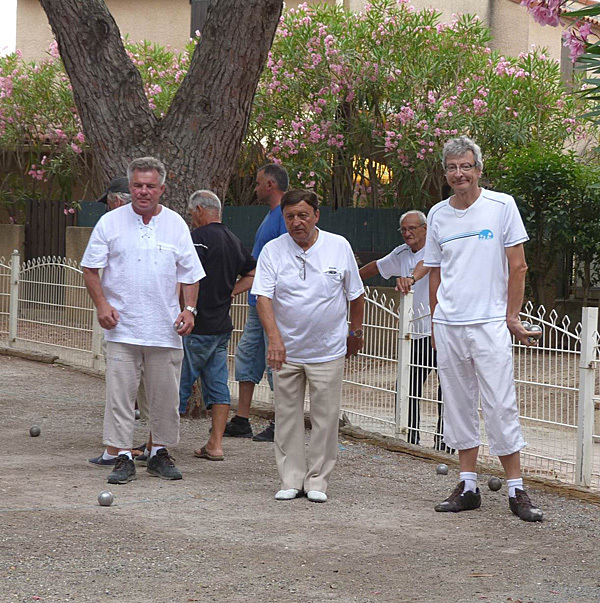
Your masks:
M 212 2 L 169 111 L 157 118 L 104 0 L 40 0 L 69 75 L 85 136 L 106 181 L 135 157 L 167 167 L 162 198 L 184 213 L 189 194 L 224 199 L 283 0 Z

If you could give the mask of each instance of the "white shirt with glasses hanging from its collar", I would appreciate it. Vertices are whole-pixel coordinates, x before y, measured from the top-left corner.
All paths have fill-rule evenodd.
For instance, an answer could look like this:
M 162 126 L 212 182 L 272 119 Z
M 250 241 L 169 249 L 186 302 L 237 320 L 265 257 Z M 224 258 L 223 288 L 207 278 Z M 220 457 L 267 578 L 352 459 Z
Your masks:
M 258 258 L 254 295 L 273 301 L 290 362 L 329 362 L 346 354 L 347 302 L 364 293 L 350 243 L 319 230 L 304 251 L 289 234 L 267 243 Z

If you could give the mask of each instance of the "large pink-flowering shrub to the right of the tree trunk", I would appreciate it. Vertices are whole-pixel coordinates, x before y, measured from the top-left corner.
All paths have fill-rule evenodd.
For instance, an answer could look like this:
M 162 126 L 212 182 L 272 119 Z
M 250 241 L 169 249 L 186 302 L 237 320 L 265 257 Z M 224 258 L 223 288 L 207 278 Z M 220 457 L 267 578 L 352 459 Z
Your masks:
M 426 206 L 440 198 L 444 142 L 470 134 L 490 170 L 531 140 L 588 136 L 559 65 L 536 50 L 493 52 L 476 17 L 373 0 L 361 13 L 284 14 L 256 94 L 242 171 L 286 165 L 294 186 L 335 206 Z

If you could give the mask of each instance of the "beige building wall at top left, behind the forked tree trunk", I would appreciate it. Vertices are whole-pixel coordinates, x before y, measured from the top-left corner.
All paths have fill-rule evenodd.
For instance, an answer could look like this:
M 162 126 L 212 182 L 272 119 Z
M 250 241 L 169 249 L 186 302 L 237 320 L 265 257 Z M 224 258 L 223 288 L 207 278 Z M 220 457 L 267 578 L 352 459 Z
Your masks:
M 189 0 L 106 0 L 121 34 L 138 42 L 152 40 L 182 50 L 190 36 Z M 42 59 L 52 42 L 52 31 L 39 0 L 18 0 L 17 48 L 26 61 Z

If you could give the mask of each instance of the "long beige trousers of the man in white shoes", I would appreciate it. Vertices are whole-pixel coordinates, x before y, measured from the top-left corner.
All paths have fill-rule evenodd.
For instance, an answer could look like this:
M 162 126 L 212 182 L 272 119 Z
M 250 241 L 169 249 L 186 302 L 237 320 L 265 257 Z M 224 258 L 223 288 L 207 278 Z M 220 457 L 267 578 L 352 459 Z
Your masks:
M 327 491 L 338 451 L 344 358 L 316 364 L 286 362 L 273 372 L 275 461 L 281 488 Z M 312 432 L 304 445 L 304 393 L 308 383 Z

